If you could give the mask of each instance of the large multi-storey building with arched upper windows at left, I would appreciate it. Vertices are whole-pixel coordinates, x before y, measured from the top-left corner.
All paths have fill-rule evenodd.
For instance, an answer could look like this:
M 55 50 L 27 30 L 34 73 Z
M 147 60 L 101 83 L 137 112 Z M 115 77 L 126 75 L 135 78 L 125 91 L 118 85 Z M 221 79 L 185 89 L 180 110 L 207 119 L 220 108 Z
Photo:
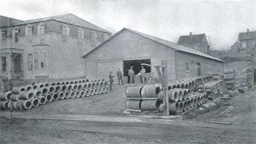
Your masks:
M 0 27 L 0 75 L 8 79 L 83 76 L 81 56 L 111 36 L 73 14 L 27 21 L 0 18 L 6 21 Z

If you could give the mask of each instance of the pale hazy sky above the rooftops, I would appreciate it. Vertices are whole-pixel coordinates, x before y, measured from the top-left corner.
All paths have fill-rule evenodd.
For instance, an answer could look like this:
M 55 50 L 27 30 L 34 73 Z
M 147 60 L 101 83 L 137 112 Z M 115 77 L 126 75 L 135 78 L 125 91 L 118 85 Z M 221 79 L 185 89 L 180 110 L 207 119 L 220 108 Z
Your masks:
M 114 35 L 123 27 L 177 43 L 205 33 L 212 49 L 230 48 L 256 30 L 256 1 L 0 0 L 0 15 L 20 20 L 72 13 Z

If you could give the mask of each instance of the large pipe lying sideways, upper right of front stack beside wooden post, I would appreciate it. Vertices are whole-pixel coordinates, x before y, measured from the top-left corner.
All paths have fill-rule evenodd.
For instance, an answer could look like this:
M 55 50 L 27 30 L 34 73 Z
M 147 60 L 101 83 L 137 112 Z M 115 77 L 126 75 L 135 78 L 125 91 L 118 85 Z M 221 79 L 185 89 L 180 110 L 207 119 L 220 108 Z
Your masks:
M 156 84 L 145 85 L 141 90 L 141 97 L 142 98 L 156 98 L 160 91 L 161 91 L 160 87 Z

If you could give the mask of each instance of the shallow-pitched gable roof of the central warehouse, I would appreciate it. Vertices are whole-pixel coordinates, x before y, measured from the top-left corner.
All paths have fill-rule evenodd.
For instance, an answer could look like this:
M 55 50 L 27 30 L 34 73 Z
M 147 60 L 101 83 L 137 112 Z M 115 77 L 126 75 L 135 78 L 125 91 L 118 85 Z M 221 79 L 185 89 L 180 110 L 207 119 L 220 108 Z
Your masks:
M 216 58 L 216 57 L 210 56 L 210 55 L 208 55 L 208 54 L 201 53 L 201 52 L 199 52 L 199 51 L 197 51 L 197 50 L 194 50 L 194 49 L 192 49 L 192 48 L 185 47 L 185 46 L 182 46 L 182 45 L 178 45 L 178 44 L 175 44 L 175 43 L 173 43 L 173 42 L 169 42 L 169 41 L 167 41 L 167 40 L 164 40 L 164 39 L 161 39 L 161 38 L 158 38 L 158 37 L 155 37 L 155 36 L 149 36 L 149 35 L 146 35 L 146 34 L 143 34 L 143 33 L 140 33 L 140 32 L 137 32 L 137 31 L 134 31 L 134 30 L 131 30 L 131 29 L 128 29 L 128 28 L 123 28 L 123 29 L 120 30 L 119 32 L 121 32 L 121 31 L 123 31 L 123 30 L 128 30 L 128 31 L 133 32 L 133 33 L 136 33 L 136 34 L 138 34 L 138 35 L 140 35 L 140 36 L 144 36 L 144 37 L 149 38 L 149 39 L 151 39 L 151 40 L 154 40 L 154 41 L 156 41 L 156 42 L 158 42 L 158 43 L 161 43 L 161 44 L 163 44 L 163 45 L 169 46 L 169 47 L 171 47 L 171 48 L 173 48 L 173 49 L 175 49 L 175 50 L 177 50 L 177 51 L 182 51 L 182 52 L 186 52 L 186 53 L 190 53 L 190 54 L 196 54 L 196 55 L 200 55 L 200 56 L 203 56 L 203 57 L 207 57 L 207 58 L 210 58 L 210 59 L 214 59 L 214 60 L 217 60 L 217 61 L 220 61 L 220 62 L 224 62 L 224 61 L 222 61 L 222 60 L 220 60 L 220 59 L 218 59 L 218 58 Z M 119 33 L 119 32 L 118 32 L 118 33 Z M 115 34 L 115 35 L 116 35 L 116 34 Z M 114 36 L 115 36 L 115 35 L 114 35 Z M 113 38 L 114 36 L 112 36 L 111 38 Z M 110 38 L 110 39 L 111 39 L 111 38 Z M 108 39 L 107 41 L 109 41 L 110 39 Z M 105 41 L 104 43 L 106 43 L 107 41 Z M 104 44 L 104 43 L 102 43 L 102 44 Z M 101 45 L 102 45 L 102 44 L 101 44 Z M 99 46 L 101 46 L 101 45 L 99 45 Z M 93 50 L 95 50 L 95 49 L 98 48 L 99 46 L 95 47 L 94 49 L 92 49 L 92 50 L 91 50 L 89 53 L 87 53 L 87 54 L 90 54 Z M 87 54 L 83 55 L 82 57 L 86 56 Z

